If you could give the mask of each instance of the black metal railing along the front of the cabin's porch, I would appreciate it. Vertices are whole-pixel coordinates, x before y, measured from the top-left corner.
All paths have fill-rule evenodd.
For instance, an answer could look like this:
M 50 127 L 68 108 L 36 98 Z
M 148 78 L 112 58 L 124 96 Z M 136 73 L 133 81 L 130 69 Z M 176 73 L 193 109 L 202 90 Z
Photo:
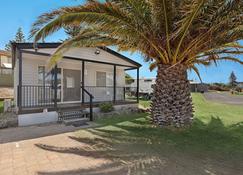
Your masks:
M 90 103 L 92 95 L 92 102 L 120 102 L 120 101 L 136 101 L 137 88 L 136 87 L 116 87 L 114 98 L 114 87 L 97 87 L 85 86 L 84 103 Z M 61 87 L 57 89 L 57 102 L 62 102 Z M 53 86 L 41 85 L 22 85 L 18 87 L 18 104 L 21 108 L 38 108 L 38 107 L 55 107 L 55 89 Z M 64 101 L 65 102 L 65 101 Z M 80 96 L 82 102 L 82 93 Z

